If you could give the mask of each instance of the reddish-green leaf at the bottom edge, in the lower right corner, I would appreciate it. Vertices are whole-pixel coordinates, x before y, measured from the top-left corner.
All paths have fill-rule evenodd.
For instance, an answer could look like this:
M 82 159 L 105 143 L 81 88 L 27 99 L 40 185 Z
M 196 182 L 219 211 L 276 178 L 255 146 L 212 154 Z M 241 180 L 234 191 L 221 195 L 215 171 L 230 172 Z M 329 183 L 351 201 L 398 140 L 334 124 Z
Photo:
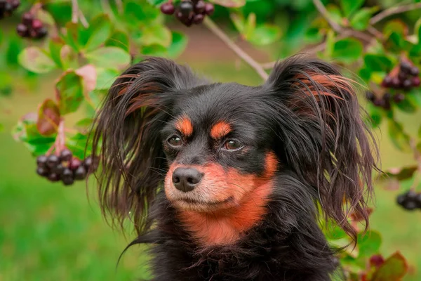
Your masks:
M 372 281 L 401 280 L 408 271 L 408 263 L 401 253 L 396 252 L 376 270 Z

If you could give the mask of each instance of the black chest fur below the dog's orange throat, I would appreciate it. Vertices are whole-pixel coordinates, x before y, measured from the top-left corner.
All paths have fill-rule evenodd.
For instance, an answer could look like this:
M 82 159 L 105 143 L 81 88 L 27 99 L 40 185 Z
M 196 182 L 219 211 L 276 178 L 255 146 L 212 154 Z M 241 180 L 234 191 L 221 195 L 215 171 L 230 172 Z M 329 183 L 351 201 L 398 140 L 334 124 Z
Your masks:
M 158 226 L 146 235 L 157 242 L 151 250 L 154 280 L 325 281 L 335 270 L 323 233 L 302 208 L 292 212 L 274 200 L 268 209 L 276 212 L 239 242 L 203 249 L 182 228 L 177 210 L 159 200 Z

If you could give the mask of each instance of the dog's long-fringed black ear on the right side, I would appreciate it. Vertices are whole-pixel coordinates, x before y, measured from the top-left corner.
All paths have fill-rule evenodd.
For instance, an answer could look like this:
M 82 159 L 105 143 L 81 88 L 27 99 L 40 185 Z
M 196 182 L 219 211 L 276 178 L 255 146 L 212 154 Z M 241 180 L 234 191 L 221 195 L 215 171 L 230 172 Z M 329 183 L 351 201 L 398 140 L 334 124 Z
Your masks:
M 368 226 L 376 165 L 352 81 L 328 63 L 295 57 L 278 63 L 264 87 L 276 100 L 288 167 L 314 188 L 326 218 L 356 238 L 348 214 Z

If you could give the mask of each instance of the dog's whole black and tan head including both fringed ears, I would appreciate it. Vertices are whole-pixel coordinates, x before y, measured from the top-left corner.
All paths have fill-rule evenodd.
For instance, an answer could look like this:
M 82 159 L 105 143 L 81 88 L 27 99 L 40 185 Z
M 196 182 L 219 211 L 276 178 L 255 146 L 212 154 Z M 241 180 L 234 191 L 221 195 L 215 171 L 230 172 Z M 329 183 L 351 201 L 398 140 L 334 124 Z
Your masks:
M 284 171 L 350 235 L 349 211 L 367 219 L 370 135 L 351 83 L 327 63 L 290 58 L 243 86 L 148 58 L 115 81 L 96 124 L 102 206 L 120 222 L 131 211 L 140 233 L 162 188 L 177 209 L 215 213 L 269 198 Z

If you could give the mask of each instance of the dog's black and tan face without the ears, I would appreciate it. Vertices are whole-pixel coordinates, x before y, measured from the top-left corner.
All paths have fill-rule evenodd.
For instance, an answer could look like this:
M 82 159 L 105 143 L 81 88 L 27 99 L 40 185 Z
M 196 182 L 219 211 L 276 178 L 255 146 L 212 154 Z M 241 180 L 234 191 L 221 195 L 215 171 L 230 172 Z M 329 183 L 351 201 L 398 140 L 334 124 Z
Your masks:
M 175 95 L 180 98 L 161 131 L 170 164 L 164 187 L 175 207 L 215 212 L 267 186 L 278 159 L 263 92 L 213 84 Z

